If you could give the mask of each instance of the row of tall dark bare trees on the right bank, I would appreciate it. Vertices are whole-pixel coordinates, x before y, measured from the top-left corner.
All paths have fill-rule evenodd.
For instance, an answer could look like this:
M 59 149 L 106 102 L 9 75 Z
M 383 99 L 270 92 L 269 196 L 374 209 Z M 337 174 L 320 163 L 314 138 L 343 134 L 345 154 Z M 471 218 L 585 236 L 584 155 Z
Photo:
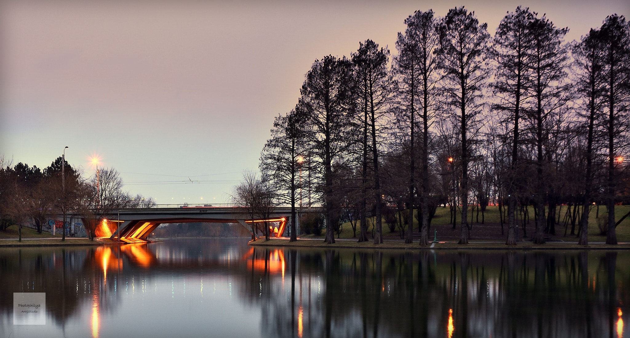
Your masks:
M 291 240 L 307 196 L 321 205 L 327 243 L 345 222 L 369 240 L 370 220 L 382 243 L 384 213 L 396 206 L 405 241 L 415 218 L 425 246 L 443 205 L 467 244 L 469 211 L 492 203 L 507 245 L 516 244 L 519 208 L 533 206 L 533 240 L 543 244 L 561 205 L 582 245 L 590 209 L 605 205 L 602 232 L 616 244 L 615 205 L 630 201 L 624 16 L 573 42 L 568 28 L 521 6 L 494 36 L 463 6 L 444 17 L 416 11 L 404 23 L 394 57 L 365 40 L 350 57 L 315 60 L 295 108 L 275 118 L 258 183 L 268 201 L 292 207 Z

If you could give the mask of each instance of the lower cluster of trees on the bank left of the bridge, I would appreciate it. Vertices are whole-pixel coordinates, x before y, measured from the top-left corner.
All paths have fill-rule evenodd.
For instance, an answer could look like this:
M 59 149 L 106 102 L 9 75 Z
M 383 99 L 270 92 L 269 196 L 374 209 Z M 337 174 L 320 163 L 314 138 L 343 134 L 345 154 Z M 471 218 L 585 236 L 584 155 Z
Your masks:
M 156 204 L 153 198 L 127 193 L 123 186 L 113 168 L 100 169 L 98 177 L 86 177 L 62 157 L 43 170 L 22 162 L 12 166 L 0 158 L 0 230 L 15 225 L 21 240 L 26 221 L 31 220 L 41 234 L 48 218 L 73 211 L 83 218 L 86 232 L 93 239 L 103 219 L 115 210 L 150 208 Z M 66 222 L 62 227 L 62 240 L 65 239 Z

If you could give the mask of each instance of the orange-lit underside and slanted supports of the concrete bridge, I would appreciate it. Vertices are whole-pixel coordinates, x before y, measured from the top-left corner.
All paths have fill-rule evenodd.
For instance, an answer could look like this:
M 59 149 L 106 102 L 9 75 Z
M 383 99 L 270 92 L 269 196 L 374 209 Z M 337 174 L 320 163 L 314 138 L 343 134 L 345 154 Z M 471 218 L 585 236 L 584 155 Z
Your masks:
M 181 218 L 181 219 L 162 219 L 162 220 L 131 220 L 128 222 L 124 222 L 120 225 L 117 232 L 115 232 L 112 237 L 113 240 L 118 239 L 118 232 L 120 232 L 120 241 L 127 243 L 144 243 L 148 242 L 147 237 L 151 235 L 153 230 L 157 228 L 160 224 L 164 223 L 194 223 L 194 222 L 203 222 L 203 223 L 235 223 L 234 219 L 209 219 L 203 220 L 199 218 Z M 287 226 L 287 218 L 271 218 L 268 220 L 237 220 L 238 223 L 243 225 L 249 232 L 251 232 L 252 223 L 264 223 L 267 222 L 270 224 L 270 235 L 271 237 L 282 237 L 284 234 L 285 227 Z M 122 222 L 122 221 L 121 221 Z M 277 224 L 277 225 L 275 225 Z M 258 224 L 256 224 L 258 225 Z M 249 226 L 249 227 L 248 227 Z M 260 228 L 260 227 L 259 227 Z M 272 235 L 273 234 L 273 235 Z M 253 234 L 252 234 L 253 235 Z

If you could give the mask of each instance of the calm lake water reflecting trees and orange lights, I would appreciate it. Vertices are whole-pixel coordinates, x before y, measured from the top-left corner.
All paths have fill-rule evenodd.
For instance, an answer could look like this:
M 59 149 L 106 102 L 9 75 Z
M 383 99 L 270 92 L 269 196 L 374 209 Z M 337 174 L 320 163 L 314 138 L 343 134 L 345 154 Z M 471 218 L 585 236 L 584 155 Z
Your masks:
M 0 337 L 630 337 L 627 251 L 0 249 Z M 46 325 L 13 325 L 45 292 Z

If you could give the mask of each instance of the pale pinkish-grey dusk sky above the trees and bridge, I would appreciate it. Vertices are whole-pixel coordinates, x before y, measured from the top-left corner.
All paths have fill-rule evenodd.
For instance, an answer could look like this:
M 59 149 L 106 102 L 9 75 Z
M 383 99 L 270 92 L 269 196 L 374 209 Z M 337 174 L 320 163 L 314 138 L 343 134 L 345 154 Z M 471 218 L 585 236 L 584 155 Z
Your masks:
M 625 0 L 0 0 L 0 156 L 84 175 L 114 168 L 159 204 L 229 203 L 304 74 L 359 42 L 389 46 L 414 11 L 465 5 L 494 34 L 529 7 L 578 40 Z

